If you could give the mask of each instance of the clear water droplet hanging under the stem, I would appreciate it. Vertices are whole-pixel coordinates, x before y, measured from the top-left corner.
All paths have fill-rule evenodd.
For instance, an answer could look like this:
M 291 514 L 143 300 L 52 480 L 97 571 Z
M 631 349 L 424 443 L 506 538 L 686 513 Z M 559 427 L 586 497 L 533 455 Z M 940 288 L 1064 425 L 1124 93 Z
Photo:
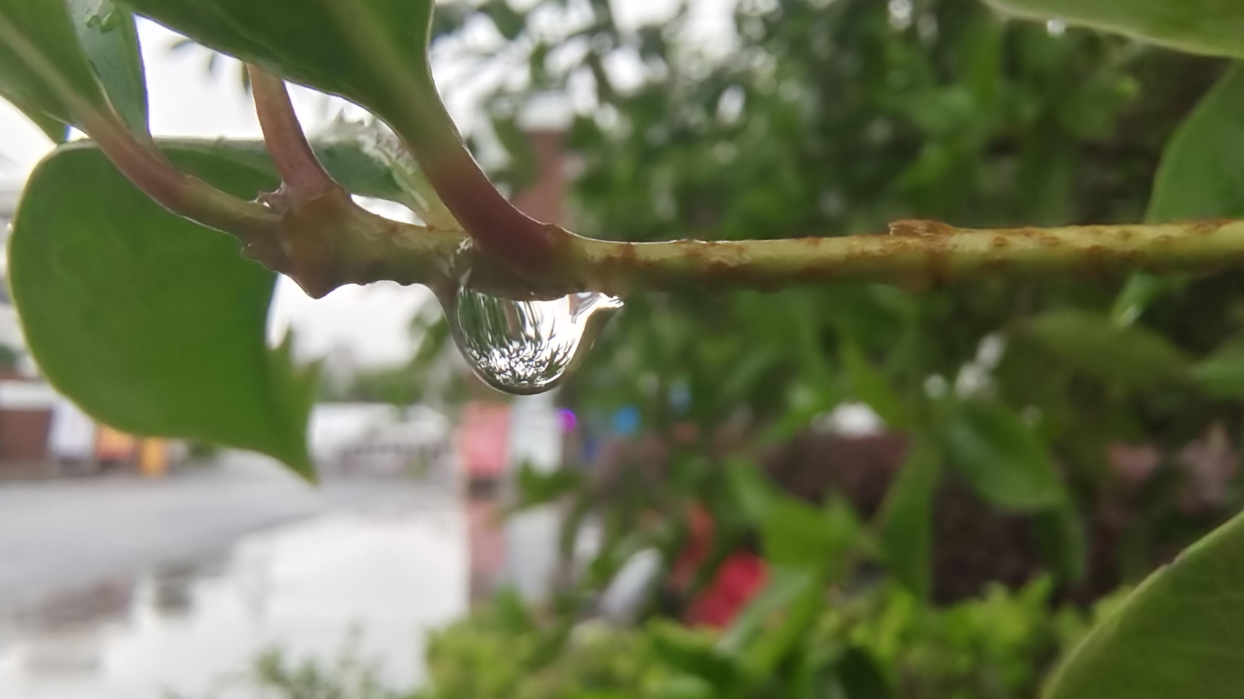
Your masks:
M 454 341 L 475 373 L 505 393 L 530 396 L 557 386 L 582 362 L 622 301 L 571 294 L 554 301 L 511 301 L 459 286 L 442 295 Z

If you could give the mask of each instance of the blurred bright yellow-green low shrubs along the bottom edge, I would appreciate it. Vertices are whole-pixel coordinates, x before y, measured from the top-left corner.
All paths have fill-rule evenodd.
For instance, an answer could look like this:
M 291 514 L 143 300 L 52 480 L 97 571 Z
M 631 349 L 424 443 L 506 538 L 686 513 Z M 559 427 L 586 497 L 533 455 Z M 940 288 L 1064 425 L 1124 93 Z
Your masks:
M 1087 628 L 1091 614 L 1050 611 L 1041 578 L 944 608 L 886 587 L 822 612 L 760 697 L 1004 699 L 1035 694 L 1041 674 Z M 1100 612 L 1116 604 L 1111 598 Z M 516 606 L 518 604 L 518 606 Z M 418 699 L 692 698 L 738 695 L 719 678 L 745 675 L 718 634 L 667 622 L 592 622 L 541 653 L 550 628 L 503 596 L 432 642 L 429 687 Z M 726 632 L 729 634 L 729 632 Z M 733 669 L 731 669 L 733 668 Z

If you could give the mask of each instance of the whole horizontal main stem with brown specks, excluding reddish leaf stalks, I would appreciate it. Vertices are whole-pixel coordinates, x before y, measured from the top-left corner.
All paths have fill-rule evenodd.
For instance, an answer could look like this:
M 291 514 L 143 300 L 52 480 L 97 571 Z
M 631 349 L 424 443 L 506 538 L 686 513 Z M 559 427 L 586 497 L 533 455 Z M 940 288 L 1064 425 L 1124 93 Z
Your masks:
M 414 229 L 414 230 L 411 230 Z M 613 243 L 571 235 L 557 269 L 532 284 L 483 251 L 462 252 L 465 234 L 394 224 L 373 235 L 364 274 L 350 281 L 435 284 L 455 260 L 470 285 L 514 299 L 577 291 L 627 296 L 687 287 L 773 290 L 827 281 L 923 287 L 986 275 L 1107 274 L 1115 270 L 1217 270 L 1244 265 L 1244 221 L 1051 229 L 957 229 L 899 221 L 886 235 L 794 240 Z M 355 270 L 363 272 L 362 269 Z M 434 276 L 427 276 L 432 272 Z

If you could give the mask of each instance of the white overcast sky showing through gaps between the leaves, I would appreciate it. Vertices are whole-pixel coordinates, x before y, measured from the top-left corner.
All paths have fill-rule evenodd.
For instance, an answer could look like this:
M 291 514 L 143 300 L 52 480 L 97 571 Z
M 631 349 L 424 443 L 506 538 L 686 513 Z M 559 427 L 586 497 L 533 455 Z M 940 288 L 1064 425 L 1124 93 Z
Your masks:
M 720 41 L 729 31 L 729 7 L 733 2 L 734 0 L 697 2 L 694 32 L 698 36 L 689 39 Z M 658 20 L 669 11 L 673 2 L 615 0 L 613 5 L 621 22 L 637 25 Z M 221 65 L 213 78 L 204 68 L 204 51 L 169 51 L 178 39 L 175 34 L 141 21 L 139 36 L 147 66 L 152 133 L 260 137 L 253 107 L 239 86 L 236 62 Z M 438 56 L 442 53 L 452 55 L 453 51 L 444 51 Z M 454 66 L 452 60 L 434 62 L 434 68 L 443 83 L 460 83 L 462 67 Z M 312 131 L 327 116 L 323 97 L 301 88 L 295 88 L 292 95 L 304 126 Z M 454 95 L 449 107 L 460 124 L 469 123 L 474 116 L 469 90 Z M 51 142 L 39 129 L 20 112 L 0 101 L 0 154 L 4 155 L 0 177 L 9 180 L 24 179 L 50 148 Z M 274 335 L 292 325 L 302 356 L 323 356 L 331 350 L 346 348 L 361 363 L 396 363 L 409 356 L 409 320 L 413 311 L 429 299 L 430 294 L 423 287 L 384 282 L 366 287 L 346 286 L 325 299 L 312 300 L 282 277 L 272 306 L 271 325 Z

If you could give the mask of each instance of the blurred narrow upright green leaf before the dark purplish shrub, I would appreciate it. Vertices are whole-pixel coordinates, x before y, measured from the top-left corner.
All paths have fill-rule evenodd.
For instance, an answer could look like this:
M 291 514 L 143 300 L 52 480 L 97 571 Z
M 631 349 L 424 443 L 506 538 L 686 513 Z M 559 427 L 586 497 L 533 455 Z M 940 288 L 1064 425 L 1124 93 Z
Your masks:
M 921 598 L 928 598 L 931 588 L 933 505 L 940 480 L 942 454 L 937 445 L 917 438 L 878 515 L 889 573 Z

